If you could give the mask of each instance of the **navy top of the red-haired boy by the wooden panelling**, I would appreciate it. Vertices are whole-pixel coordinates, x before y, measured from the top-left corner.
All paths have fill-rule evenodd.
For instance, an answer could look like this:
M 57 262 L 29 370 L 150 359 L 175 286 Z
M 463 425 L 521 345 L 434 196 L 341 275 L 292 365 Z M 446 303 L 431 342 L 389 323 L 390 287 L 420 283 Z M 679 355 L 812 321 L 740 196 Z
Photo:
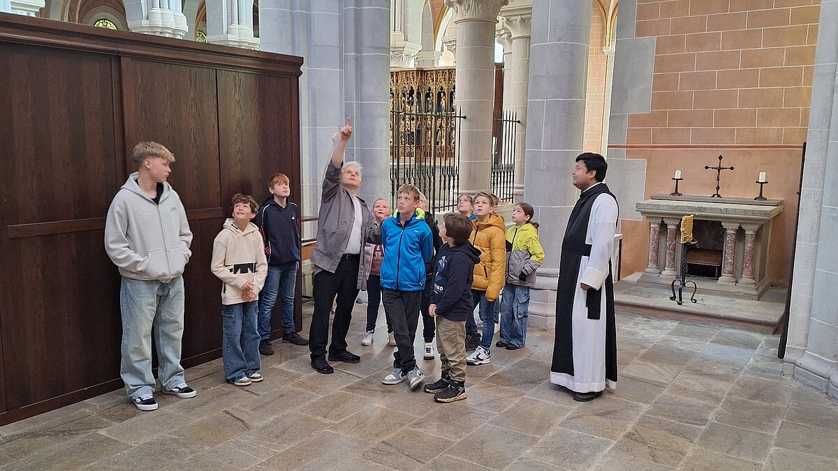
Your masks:
M 300 210 L 291 201 L 284 208 L 273 196 L 262 203 L 253 224 L 261 232 L 268 265 L 300 261 L 299 217 Z

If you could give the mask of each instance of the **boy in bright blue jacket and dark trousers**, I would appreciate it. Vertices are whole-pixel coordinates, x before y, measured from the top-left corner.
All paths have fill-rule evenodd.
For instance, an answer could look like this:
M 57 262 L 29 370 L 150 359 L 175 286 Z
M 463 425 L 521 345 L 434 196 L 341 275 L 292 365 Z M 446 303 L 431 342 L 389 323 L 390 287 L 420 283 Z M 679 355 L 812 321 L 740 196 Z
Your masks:
M 403 184 L 397 194 L 396 214 L 380 226 L 384 245 L 381 301 L 396 337 L 393 370 L 381 382 L 397 385 L 408 380 L 415 389 L 425 379 L 416 366 L 413 340 L 425 289 L 425 264 L 433 257 L 433 239 L 419 208 L 419 189 Z

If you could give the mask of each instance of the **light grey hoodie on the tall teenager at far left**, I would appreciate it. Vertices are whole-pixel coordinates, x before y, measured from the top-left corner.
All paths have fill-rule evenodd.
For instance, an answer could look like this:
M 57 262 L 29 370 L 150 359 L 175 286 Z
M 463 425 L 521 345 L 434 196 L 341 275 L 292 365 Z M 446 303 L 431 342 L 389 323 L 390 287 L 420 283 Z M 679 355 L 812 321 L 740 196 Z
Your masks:
M 159 203 L 148 198 L 132 173 L 116 192 L 105 220 L 105 251 L 119 274 L 133 280 L 171 282 L 184 272 L 192 252 L 186 210 L 168 182 Z

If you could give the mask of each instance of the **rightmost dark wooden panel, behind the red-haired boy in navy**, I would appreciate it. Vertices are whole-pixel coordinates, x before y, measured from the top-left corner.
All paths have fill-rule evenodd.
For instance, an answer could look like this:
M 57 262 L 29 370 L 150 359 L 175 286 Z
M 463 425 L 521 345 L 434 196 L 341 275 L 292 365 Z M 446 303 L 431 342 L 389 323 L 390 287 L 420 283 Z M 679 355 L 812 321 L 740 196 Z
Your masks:
M 222 202 L 230 210 L 236 193 L 252 194 L 259 204 L 270 197 L 267 181 L 285 173 L 291 181 L 290 199 L 300 204 L 298 115 L 292 106 L 297 80 L 276 75 L 219 70 L 219 152 Z M 296 94 L 293 95 L 296 98 Z M 297 282 L 295 320 L 302 321 L 302 283 Z M 282 328 L 280 303 L 274 307 L 272 331 Z M 297 323 L 297 328 L 302 322 Z

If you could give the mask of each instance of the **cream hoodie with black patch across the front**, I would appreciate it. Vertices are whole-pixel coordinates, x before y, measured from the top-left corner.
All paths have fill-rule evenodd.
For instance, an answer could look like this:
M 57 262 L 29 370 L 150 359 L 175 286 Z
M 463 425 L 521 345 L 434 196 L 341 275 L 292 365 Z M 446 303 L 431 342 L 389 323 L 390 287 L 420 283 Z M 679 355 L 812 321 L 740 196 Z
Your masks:
M 222 304 L 246 303 L 241 297 L 241 287 L 245 282 L 256 285 L 255 292 L 258 294 L 267 276 L 265 246 L 262 245 L 259 228 L 251 222 L 242 231 L 232 218 L 225 220 L 224 228 L 213 242 L 210 267 L 213 274 L 224 282 L 221 287 Z

